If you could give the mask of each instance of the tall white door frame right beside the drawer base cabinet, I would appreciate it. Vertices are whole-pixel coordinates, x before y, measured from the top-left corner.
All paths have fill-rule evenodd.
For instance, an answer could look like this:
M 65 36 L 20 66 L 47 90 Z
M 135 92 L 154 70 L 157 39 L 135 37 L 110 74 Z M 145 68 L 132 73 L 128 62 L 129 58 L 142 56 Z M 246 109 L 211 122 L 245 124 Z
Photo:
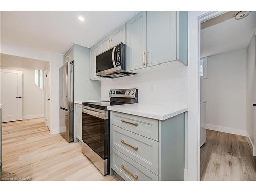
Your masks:
M 188 12 L 188 181 L 200 181 L 200 50 L 201 23 L 227 11 Z

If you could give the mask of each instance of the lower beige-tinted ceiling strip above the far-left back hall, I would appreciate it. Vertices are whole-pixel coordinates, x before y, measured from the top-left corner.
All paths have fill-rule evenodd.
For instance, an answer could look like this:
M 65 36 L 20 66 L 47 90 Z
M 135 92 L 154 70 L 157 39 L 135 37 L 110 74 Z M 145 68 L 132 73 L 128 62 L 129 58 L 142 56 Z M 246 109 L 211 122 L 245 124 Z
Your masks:
M 18 57 L 7 54 L 0 54 L 0 66 L 45 70 L 49 65 L 48 61 Z

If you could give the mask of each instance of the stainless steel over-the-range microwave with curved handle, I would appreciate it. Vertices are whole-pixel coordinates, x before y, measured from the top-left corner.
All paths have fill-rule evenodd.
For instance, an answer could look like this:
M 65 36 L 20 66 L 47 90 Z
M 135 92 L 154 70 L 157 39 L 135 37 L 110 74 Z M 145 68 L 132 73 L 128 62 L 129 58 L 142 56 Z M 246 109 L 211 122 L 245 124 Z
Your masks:
M 96 75 L 117 78 L 134 75 L 126 71 L 125 44 L 122 42 L 96 56 Z

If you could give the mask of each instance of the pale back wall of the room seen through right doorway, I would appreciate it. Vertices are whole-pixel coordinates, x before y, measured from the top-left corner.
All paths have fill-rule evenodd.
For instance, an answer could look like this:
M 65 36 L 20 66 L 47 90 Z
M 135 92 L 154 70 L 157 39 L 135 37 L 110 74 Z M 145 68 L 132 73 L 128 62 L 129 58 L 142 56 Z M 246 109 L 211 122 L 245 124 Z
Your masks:
M 201 80 L 207 128 L 246 134 L 246 50 L 207 57 L 207 79 Z

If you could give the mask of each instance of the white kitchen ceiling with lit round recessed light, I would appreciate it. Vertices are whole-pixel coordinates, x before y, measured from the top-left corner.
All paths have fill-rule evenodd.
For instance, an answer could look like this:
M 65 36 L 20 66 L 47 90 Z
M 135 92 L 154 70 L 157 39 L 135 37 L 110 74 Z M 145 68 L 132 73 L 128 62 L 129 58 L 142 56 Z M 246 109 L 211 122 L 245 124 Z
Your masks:
M 65 53 L 73 43 L 91 48 L 137 11 L 2 11 L 1 42 Z M 78 16 L 85 18 L 84 22 Z

